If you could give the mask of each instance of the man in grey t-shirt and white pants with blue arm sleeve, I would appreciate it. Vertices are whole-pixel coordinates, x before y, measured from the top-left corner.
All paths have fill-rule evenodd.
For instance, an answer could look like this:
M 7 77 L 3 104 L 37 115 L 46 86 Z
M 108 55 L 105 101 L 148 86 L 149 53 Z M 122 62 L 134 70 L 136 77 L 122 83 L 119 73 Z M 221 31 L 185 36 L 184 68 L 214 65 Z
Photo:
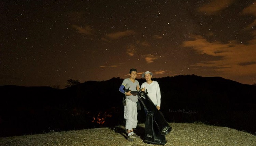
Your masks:
M 119 88 L 119 91 L 125 94 L 125 102 L 126 105 L 124 106 L 124 118 L 125 118 L 125 129 L 127 130 L 128 141 L 133 141 L 133 138 L 140 138 L 140 136 L 136 135 L 133 131 L 137 127 L 137 102 L 138 102 L 138 96 L 132 95 L 131 91 L 139 91 L 140 85 L 139 81 L 136 80 L 137 77 L 137 70 L 136 69 L 130 69 L 129 73 L 130 77 L 124 79 L 122 85 Z M 129 88 L 129 92 L 125 92 L 124 87 L 126 89 Z

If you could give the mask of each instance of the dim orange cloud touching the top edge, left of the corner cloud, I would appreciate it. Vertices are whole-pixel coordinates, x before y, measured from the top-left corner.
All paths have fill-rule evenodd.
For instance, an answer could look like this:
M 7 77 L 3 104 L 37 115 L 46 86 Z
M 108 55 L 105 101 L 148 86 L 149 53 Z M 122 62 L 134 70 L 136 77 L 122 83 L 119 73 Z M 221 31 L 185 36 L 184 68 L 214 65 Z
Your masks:
M 214 15 L 227 8 L 233 3 L 234 0 L 213 0 L 209 4 L 199 7 L 199 12 L 206 13 L 207 15 Z

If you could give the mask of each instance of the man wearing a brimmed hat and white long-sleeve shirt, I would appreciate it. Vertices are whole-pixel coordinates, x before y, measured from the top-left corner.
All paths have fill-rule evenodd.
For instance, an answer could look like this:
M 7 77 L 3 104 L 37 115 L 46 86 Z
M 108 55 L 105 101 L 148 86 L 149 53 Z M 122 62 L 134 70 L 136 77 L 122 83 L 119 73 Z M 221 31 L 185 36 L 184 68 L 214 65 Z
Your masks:
M 153 76 L 153 73 L 149 71 L 146 71 L 142 74 L 142 78 L 145 78 L 146 81 L 142 83 L 141 91 L 147 90 L 148 97 L 155 104 L 156 108 L 160 110 L 160 104 L 161 104 L 160 87 L 157 81 L 151 80 L 152 76 Z

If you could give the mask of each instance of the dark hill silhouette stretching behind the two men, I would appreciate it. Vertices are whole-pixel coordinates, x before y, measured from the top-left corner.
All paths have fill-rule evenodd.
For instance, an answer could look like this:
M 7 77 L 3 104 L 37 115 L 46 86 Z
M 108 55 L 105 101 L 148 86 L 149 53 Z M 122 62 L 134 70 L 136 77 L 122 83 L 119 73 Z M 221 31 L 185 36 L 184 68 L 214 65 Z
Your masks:
M 196 75 L 153 80 L 159 83 L 168 122 L 202 122 L 255 134 L 256 86 Z M 61 90 L 0 86 L 0 137 L 123 125 L 122 81 L 86 81 Z M 144 123 L 143 110 L 138 120 Z

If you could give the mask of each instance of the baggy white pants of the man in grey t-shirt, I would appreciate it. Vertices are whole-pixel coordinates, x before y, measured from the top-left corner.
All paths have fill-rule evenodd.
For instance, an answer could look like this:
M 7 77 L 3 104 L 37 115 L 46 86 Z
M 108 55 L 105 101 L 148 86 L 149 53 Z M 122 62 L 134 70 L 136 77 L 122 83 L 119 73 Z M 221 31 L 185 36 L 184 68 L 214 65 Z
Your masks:
M 125 128 L 131 130 L 137 127 L 137 103 L 132 102 L 130 99 L 125 99 L 126 106 L 124 111 Z

